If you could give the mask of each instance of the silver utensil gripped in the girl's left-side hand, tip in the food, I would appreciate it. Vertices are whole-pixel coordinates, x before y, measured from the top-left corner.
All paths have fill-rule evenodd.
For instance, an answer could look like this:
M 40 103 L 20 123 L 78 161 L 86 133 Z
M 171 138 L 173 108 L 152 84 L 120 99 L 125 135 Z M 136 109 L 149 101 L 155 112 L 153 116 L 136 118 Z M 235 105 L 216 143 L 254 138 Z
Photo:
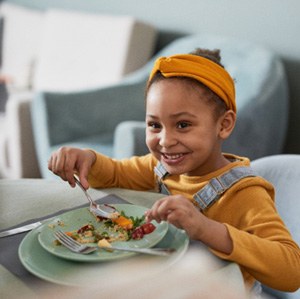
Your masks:
M 120 214 L 119 214 L 119 212 L 117 212 L 117 210 L 114 207 L 112 207 L 108 204 L 104 204 L 104 205 L 100 206 L 97 203 L 95 203 L 93 201 L 93 199 L 91 198 L 91 196 L 89 195 L 89 193 L 84 189 L 84 187 L 80 183 L 80 180 L 78 179 L 78 177 L 75 174 L 74 174 L 74 179 L 75 179 L 75 183 L 81 188 L 81 190 L 84 192 L 86 198 L 90 202 L 90 211 L 92 213 L 94 213 L 96 216 L 100 216 L 103 218 L 109 218 L 109 219 L 115 219 L 115 218 L 119 217 Z

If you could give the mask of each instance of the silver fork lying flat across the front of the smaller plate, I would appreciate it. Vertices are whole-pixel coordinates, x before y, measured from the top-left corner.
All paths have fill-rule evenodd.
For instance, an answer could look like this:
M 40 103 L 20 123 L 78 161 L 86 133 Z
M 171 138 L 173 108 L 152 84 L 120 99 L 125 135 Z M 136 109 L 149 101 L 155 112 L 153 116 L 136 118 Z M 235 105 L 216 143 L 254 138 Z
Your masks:
M 66 235 L 63 231 L 58 230 L 54 233 L 54 237 L 58 240 L 62 245 L 67 247 L 73 252 L 81 253 L 81 254 L 89 254 L 98 249 L 104 249 L 107 251 L 111 250 L 119 250 L 119 251 L 128 251 L 128 252 L 136 252 L 136 253 L 144 253 L 144 254 L 152 254 L 152 255 L 160 255 L 160 256 L 169 256 L 171 253 L 175 252 L 174 248 L 123 248 L 118 246 L 111 247 L 94 247 L 83 245 L 72 239 L 70 236 Z

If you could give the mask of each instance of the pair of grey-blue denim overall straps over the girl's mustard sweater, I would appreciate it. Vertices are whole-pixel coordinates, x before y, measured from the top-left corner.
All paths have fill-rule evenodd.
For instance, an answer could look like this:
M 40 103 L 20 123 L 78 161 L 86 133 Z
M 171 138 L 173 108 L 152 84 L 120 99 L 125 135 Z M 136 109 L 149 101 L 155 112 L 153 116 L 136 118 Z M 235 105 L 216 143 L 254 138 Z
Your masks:
M 166 185 L 163 183 L 164 178 L 168 176 L 168 172 L 161 163 L 154 168 L 154 172 L 158 177 L 159 192 L 170 195 Z M 203 188 L 193 195 L 198 208 L 204 211 L 213 205 L 222 194 L 239 180 L 246 177 L 255 176 L 251 167 L 237 166 L 223 173 L 222 175 L 212 178 Z

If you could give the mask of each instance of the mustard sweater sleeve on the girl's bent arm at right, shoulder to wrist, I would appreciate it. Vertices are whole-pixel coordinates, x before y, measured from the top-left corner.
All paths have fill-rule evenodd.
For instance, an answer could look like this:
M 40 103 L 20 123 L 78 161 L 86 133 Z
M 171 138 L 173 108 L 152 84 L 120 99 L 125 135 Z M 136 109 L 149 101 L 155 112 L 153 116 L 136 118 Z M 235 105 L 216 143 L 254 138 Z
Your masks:
M 248 281 L 252 276 L 252 281 L 255 278 L 274 289 L 297 290 L 300 249 L 277 213 L 272 197 L 261 186 L 250 186 L 231 198 L 223 220 L 233 251 L 226 255 L 213 250 L 214 254 L 238 263 Z M 226 213 L 227 208 L 223 212 Z

